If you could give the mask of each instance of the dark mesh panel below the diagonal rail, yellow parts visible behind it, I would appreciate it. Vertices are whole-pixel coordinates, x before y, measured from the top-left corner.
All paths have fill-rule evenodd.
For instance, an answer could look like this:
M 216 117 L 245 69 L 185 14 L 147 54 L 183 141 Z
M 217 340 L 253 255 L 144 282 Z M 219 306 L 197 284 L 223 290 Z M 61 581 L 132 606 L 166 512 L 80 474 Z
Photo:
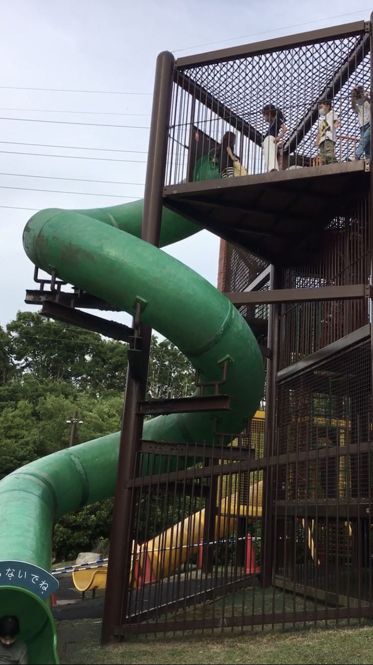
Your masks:
M 364 342 L 279 384 L 277 452 L 297 456 L 279 467 L 282 499 L 370 494 L 370 358 Z

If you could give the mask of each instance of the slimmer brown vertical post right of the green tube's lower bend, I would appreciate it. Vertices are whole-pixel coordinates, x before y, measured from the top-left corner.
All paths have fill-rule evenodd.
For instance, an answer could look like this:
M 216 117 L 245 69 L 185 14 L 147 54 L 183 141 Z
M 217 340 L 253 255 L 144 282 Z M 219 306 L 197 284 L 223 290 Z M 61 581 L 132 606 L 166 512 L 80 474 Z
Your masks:
M 279 269 L 271 266 L 270 289 L 279 287 Z M 275 447 L 275 416 L 276 416 L 276 373 L 279 360 L 279 316 L 281 305 L 275 303 L 269 307 L 268 346 L 271 358 L 267 360 L 267 376 L 265 390 L 265 430 L 264 457 L 274 454 Z M 261 522 L 261 553 L 260 583 L 262 587 L 270 587 L 273 581 L 273 561 L 275 543 L 273 543 L 272 503 L 273 503 L 273 466 L 263 469 L 263 517 Z

